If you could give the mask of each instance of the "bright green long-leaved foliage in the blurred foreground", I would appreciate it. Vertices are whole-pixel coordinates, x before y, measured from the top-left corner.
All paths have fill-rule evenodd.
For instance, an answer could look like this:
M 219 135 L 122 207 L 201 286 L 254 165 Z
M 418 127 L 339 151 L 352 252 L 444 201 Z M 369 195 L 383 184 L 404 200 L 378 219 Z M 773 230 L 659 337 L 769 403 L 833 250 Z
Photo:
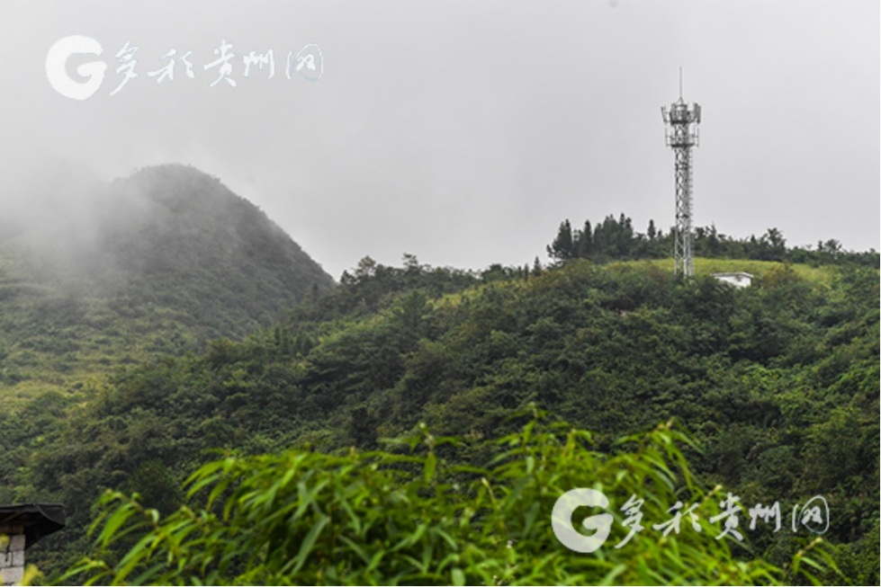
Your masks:
M 310 450 L 228 456 L 188 480 L 190 505 L 161 517 L 137 495 L 108 493 L 95 522 L 99 558 L 65 579 L 89 585 L 753 585 L 822 584 L 835 570 L 820 539 L 787 568 L 750 560 L 715 539 L 719 496 L 706 494 L 678 445 L 688 437 L 659 426 L 592 449 L 591 434 L 539 420 L 501 440 L 418 436 L 392 451 L 331 456 Z M 409 444 L 409 448 L 407 447 Z M 486 468 L 454 466 L 456 453 L 496 455 Z M 562 494 L 591 487 L 616 518 L 591 554 L 553 536 Z M 717 488 L 718 489 L 718 488 Z M 643 525 L 624 547 L 631 495 L 645 500 Z M 661 538 L 677 501 L 701 503 L 702 531 L 683 523 Z M 580 521 L 589 511 L 576 511 Z M 685 522 L 685 520 L 683 520 Z M 100 531 L 98 531 L 100 529 Z M 742 560 L 744 559 L 745 560 Z M 810 573 L 808 572 L 810 571 Z M 58 583 L 54 583 L 58 584 Z

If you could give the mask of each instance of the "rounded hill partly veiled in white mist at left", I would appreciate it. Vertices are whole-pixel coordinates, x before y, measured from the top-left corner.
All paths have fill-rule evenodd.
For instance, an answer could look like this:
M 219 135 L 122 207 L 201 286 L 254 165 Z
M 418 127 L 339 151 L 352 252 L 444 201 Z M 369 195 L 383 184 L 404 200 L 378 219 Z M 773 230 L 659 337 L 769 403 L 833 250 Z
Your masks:
M 0 399 L 241 339 L 333 286 L 259 209 L 183 165 L 62 170 L 0 218 Z

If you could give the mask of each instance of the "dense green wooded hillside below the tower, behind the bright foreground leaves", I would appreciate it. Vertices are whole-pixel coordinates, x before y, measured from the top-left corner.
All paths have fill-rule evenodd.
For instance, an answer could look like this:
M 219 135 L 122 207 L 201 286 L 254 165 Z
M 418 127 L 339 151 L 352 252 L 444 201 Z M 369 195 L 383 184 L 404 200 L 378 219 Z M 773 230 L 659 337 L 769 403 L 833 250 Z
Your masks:
M 652 262 L 476 275 L 365 258 L 337 289 L 243 342 L 119 371 L 80 408 L 49 394 L 5 415 L 15 431 L 0 467 L 6 501 L 66 503 L 69 528 L 33 550 L 58 569 L 88 549 L 101 487 L 174 511 L 179 482 L 212 458 L 206 449 L 373 449 L 419 422 L 438 436 L 489 438 L 517 431 L 522 420 L 508 416 L 535 403 L 594 431 L 601 452 L 674 418 L 705 448 L 686 449 L 701 482 L 743 503 L 786 509 L 823 494 L 824 538 L 842 545 L 842 571 L 874 585 L 881 276 L 849 264 L 751 269 L 753 286 L 733 289 Z M 776 564 L 800 544 L 782 531 L 751 539 L 742 556 Z

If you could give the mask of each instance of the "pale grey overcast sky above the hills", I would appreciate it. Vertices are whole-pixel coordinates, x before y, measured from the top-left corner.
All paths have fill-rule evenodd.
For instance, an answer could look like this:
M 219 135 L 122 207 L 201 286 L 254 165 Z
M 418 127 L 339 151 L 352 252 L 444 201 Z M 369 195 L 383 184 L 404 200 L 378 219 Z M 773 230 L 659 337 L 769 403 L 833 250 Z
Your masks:
M 105 180 L 194 165 L 337 279 L 368 254 L 546 262 L 563 218 L 674 223 L 661 105 L 681 66 L 703 110 L 697 226 L 881 248 L 878 0 L 133 4 L 0 1 L 4 173 L 57 158 Z M 103 48 L 68 59 L 76 81 L 76 67 L 108 65 L 86 100 L 46 73 L 71 35 Z M 224 40 L 235 87 L 204 69 Z M 126 43 L 137 77 L 110 95 Z M 310 43 L 323 76 L 289 79 L 289 53 L 297 64 Z M 183 62 L 173 80 L 148 76 L 169 49 L 192 51 L 193 78 Z M 243 56 L 269 49 L 274 76 L 245 77 Z

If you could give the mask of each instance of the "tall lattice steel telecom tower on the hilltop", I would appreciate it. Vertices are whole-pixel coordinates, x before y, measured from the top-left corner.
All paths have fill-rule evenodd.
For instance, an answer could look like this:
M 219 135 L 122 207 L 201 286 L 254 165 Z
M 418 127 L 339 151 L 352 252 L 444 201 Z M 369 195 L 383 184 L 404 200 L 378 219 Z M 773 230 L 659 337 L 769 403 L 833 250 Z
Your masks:
M 691 147 L 697 147 L 697 125 L 700 123 L 700 105 L 691 108 L 682 100 L 682 69 L 679 68 L 679 100 L 670 104 L 670 110 L 661 106 L 666 129 L 667 146 L 676 154 L 676 244 L 673 248 L 674 271 L 686 277 L 695 274 L 691 257 Z

